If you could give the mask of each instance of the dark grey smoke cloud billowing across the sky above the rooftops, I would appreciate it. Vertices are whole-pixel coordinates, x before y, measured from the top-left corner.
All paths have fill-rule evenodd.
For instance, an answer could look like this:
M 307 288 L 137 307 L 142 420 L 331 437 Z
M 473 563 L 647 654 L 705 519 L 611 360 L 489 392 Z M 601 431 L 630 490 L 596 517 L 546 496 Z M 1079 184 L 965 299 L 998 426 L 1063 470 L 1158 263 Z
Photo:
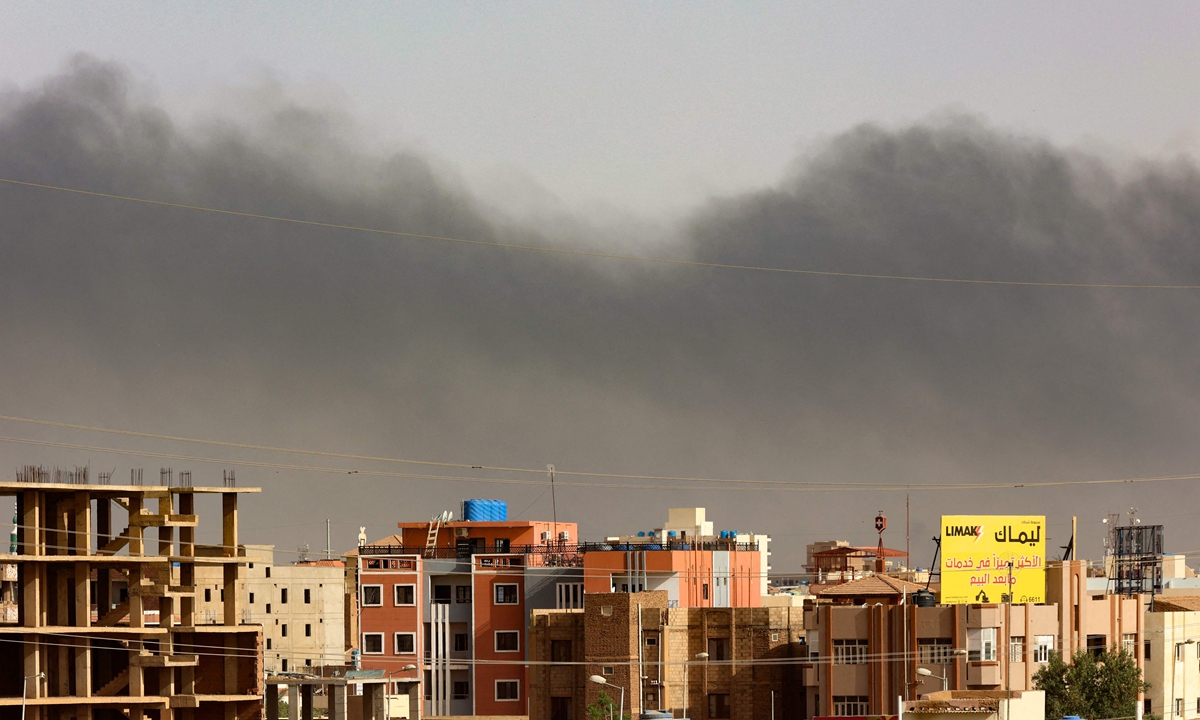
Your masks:
M 121 67 L 85 56 L 38 88 L 10 91 L 0 100 L 0 176 L 431 235 L 598 242 L 506 217 L 427 158 L 372 154 L 336 113 L 275 102 L 252 120 L 233 113 L 185 127 L 146 97 Z M 1200 470 L 1196 290 L 660 266 L 13 186 L 0 187 L 0 218 L 5 414 L 656 475 L 893 485 Z M 1195 284 L 1198 233 L 1200 174 L 1189 161 L 1117 169 L 958 118 L 850 130 L 778 185 L 697 206 L 648 252 L 888 275 Z M 2 431 L 298 462 L 8 422 Z M 118 478 L 131 463 L 158 462 L 13 444 L 0 455 L 7 467 L 90 462 Z M 216 464 L 162 463 L 190 467 L 198 482 L 220 474 Z M 541 486 L 238 474 L 265 491 L 247 502 L 247 539 L 283 547 L 319 546 L 328 517 L 344 550 L 360 523 L 379 536 L 466 497 L 504 498 L 527 518 L 551 514 Z M 1098 520 L 1138 505 L 1168 524 L 1176 550 L 1200 547 L 1176 510 L 1194 499 L 1188 482 L 918 492 L 914 559 L 928 563 L 942 512 L 1045 512 L 1051 545 L 1066 544 L 1078 515 L 1094 553 Z M 719 527 L 775 535 L 776 570 L 798 570 L 806 541 L 872 542 L 877 510 L 893 518 L 888 542 L 904 544 L 902 492 L 564 486 L 558 517 L 594 538 L 654 527 L 666 508 L 689 504 L 708 506 Z

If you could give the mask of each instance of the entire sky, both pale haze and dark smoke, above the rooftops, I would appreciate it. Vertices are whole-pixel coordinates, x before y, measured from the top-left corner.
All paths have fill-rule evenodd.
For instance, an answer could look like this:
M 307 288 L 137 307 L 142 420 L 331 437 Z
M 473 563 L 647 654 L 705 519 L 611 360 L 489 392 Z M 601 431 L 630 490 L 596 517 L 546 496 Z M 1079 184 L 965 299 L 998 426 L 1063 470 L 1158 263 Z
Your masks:
M 1194 5 L 203 7 L 7 4 L 0 178 L 731 264 L 1200 283 Z M 1200 472 L 1200 292 L 634 265 L 12 186 L 0 220 L 0 414 L 652 475 Z M 0 445 L 0 467 L 22 462 L 221 468 Z M 247 540 L 284 548 L 322 545 L 326 517 L 344 550 L 359 524 L 382 536 L 467 497 L 551 510 L 540 486 L 238 474 L 265 488 Z M 1180 522 L 1196 499 L 1188 482 L 916 493 L 914 560 L 938 515 L 974 511 L 1044 512 L 1051 547 L 1079 515 L 1096 554 L 1099 518 L 1138 505 L 1200 548 Z M 894 492 L 564 486 L 558 503 L 589 538 L 707 505 L 774 535 L 776 570 L 812 540 L 872 544 L 878 510 L 902 546 Z

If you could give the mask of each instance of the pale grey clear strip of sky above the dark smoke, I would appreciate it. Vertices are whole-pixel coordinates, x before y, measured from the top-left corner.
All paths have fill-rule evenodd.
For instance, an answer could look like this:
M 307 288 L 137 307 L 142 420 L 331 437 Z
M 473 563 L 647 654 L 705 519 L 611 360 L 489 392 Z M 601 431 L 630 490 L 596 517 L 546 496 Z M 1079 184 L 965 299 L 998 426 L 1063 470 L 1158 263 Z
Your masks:
M 770 184 L 859 122 L 947 110 L 1120 154 L 1200 149 L 1190 2 L 5 2 L 4 82 L 77 50 L 168 108 L 271 76 L 498 199 L 655 215 Z

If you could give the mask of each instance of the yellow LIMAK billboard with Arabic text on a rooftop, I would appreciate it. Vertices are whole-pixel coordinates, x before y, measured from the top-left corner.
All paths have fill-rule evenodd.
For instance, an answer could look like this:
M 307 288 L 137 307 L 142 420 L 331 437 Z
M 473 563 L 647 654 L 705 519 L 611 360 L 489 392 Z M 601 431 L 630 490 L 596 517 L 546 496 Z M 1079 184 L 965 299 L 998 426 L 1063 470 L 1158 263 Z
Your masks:
M 942 602 L 1045 602 L 1046 518 L 943 515 Z

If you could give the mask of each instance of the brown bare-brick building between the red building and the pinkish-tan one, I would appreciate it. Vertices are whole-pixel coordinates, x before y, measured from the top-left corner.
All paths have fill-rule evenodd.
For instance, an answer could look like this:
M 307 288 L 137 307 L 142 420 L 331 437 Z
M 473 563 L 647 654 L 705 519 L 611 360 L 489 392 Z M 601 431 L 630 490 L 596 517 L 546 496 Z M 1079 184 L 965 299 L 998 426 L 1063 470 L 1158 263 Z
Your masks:
M 588 594 L 583 605 L 533 611 L 530 720 L 586 720 L 601 691 L 617 701 L 619 689 L 634 718 L 803 716 L 804 608 L 672 607 L 665 590 Z

